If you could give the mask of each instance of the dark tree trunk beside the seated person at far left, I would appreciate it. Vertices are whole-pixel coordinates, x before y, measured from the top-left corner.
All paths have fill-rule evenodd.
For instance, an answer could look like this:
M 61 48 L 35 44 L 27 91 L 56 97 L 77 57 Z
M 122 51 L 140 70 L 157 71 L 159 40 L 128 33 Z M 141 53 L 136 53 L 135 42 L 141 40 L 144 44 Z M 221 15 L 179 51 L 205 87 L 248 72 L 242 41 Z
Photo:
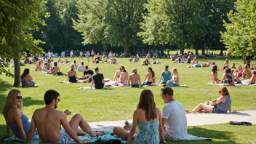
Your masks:
M 15 83 L 13 84 L 13 87 L 20 87 L 20 57 L 18 56 L 19 53 L 20 53 L 20 50 L 17 50 L 17 55 L 15 55 L 15 57 L 14 57 L 14 61 L 15 61 Z

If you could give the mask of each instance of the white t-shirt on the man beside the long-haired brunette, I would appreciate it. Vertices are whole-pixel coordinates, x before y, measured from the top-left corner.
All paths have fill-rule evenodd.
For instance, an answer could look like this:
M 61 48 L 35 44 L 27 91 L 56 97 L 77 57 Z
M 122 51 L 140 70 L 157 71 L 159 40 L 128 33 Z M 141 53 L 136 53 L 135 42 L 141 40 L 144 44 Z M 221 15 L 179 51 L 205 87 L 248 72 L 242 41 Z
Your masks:
M 187 117 L 183 105 L 177 101 L 171 101 L 164 106 L 162 117 L 167 120 L 166 131 L 175 140 L 186 140 L 188 137 Z

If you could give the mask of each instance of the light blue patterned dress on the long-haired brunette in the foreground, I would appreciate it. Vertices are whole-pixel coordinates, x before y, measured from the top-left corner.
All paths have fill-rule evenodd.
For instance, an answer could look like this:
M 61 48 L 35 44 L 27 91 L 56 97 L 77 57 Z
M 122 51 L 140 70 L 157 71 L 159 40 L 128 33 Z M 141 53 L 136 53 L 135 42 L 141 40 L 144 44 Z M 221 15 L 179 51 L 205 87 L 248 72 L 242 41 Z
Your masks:
M 135 137 L 133 143 L 155 144 L 160 143 L 159 121 L 138 122 L 137 127 L 140 133 Z

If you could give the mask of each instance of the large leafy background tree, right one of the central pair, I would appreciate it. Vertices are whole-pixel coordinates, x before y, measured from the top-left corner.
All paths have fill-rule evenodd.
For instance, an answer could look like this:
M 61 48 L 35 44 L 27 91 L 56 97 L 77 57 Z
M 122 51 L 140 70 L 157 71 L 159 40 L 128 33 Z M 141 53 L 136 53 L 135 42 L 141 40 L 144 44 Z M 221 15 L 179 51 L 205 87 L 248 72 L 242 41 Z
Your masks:
M 177 45 L 183 54 L 206 34 L 209 21 L 200 0 L 148 0 L 145 7 L 148 15 L 138 33 L 145 43 Z

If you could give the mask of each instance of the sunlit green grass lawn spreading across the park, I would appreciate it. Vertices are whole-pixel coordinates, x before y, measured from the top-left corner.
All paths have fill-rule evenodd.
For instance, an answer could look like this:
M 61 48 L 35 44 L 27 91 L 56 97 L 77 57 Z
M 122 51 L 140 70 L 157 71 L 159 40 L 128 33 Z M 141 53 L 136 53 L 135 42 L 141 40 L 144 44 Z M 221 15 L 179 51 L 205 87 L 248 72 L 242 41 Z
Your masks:
M 55 59 L 56 60 L 56 59 Z M 71 58 L 68 57 L 68 60 Z M 104 74 L 105 78 L 113 79 L 113 75 L 121 65 L 131 73 L 132 68 L 137 68 L 138 73 L 143 80 L 147 71 L 147 66 L 141 66 L 140 63 L 128 63 L 127 58 L 118 58 L 118 65 L 92 64 L 87 63 L 87 60 L 79 60 L 75 58 L 76 63 L 84 61 L 89 69 L 95 66 L 100 68 L 100 73 Z M 142 60 L 141 60 L 142 61 Z M 175 100 L 183 103 L 185 109 L 192 109 L 199 103 L 205 100 L 213 100 L 219 97 L 218 85 L 208 85 L 210 82 L 211 68 L 186 68 L 188 64 L 172 63 L 167 59 L 161 59 L 163 62 L 159 65 L 151 65 L 156 73 L 156 81 L 159 81 L 161 71 L 164 70 L 164 65 L 169 65 L 169 69 L 177 68 L 180 75 L 180 84 L 185 84 L 186 87 L 173 87 L 175 92 Z M 199 63 L 207 63 L 207 60 L 199 59 Z M 219 67 L 223 67 L 224 60 L 215 60 Z M 229 63 L 243 63 L 242 60 L 229 60 Z M 252 60 L 251 63 L 256 63 Z M 67 65 L 59 65 L 63 72 L 68 71 Z M 138 103 L 140 92 L 143 89 L 151 89 L 155 96 L 156 106 L 163 108 L 164 103 L 161 100 L 161 87 L 143 87 L 140 89 L 132 88 L 111 88 L 111 89 L 76 89 L 76 87 L 89 87 L 90 84 L 61 84 L 60 81 L 66 81 L 66 76 L 47 76 L 41 71 L 34 71 L 35 65 L 26 65 L 21 67 L 31 69 L 31 76 L 36 84 L 40 87 L 20 88 L 23 95 L 23 113 L 31 119 L 33 111 L 36 108 L 44 107 L 44 92 L 48 89 L 55 89 L 60 92 L 61 102 L 58 105 L 58 110 L 65 111 L 69 109 L 71 115 L 81 113 L 87 121 L 115 121 L 132 119 L 133 111 L 135 111 Z M 14 71 L 10 68 L 10 71 Z M 78 76 L 82 75 L 77 72 Z M 223 72 L 218 72 L 218 77 L 221 79 Z M 6 102 L 7 93 L 12 89 L 14 79 L 5 76 L 0 76 L 3 79 L 3 84 L 0 84 L 0 111 Z M 255 87 L 228 87 L 232 99 L 232 111 L 256 110 Z M 71 116 L 68 117 L 71 119 Z M 216 124 L 201 127 L 189 127 L 188 132 L 192 135 L 202 137 L 212 137 L 212 143 L 256 143 L 255 126 L 252 127 L 236 127 L 229 124 Z M 0 137 L 6 135 L 4 116 L 0 114 Z M 176 143 L 176 142 L 175 142 Z M 209 142 L 177 142 L 177 143 L 209 143 Z

